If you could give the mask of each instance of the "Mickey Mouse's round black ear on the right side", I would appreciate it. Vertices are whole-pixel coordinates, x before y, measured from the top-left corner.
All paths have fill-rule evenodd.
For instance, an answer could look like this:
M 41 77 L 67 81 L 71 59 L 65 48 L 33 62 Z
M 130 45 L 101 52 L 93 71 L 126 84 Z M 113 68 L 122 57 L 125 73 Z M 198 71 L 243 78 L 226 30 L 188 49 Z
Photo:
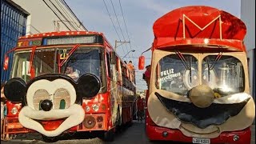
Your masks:
M 78 94 L 93 98 L 101 88 L 100 80 L 94 74 L 84 74 L 78 79 Z

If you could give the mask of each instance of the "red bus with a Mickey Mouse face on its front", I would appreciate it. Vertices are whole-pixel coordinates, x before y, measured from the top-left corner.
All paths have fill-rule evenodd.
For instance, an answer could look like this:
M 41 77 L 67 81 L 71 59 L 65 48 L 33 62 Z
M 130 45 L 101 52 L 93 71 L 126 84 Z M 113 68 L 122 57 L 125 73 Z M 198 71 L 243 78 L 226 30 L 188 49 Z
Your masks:
M 14 61 L 4 86 L 3 134 L 38 132 L 54 142 L 61 134 L 87 132 L 113 141 L 117 126 L 132 123 L 134 71 L 102 33 L 27 35 L 10 52 Z M 7 53 L 4 69 L 8 60 Z

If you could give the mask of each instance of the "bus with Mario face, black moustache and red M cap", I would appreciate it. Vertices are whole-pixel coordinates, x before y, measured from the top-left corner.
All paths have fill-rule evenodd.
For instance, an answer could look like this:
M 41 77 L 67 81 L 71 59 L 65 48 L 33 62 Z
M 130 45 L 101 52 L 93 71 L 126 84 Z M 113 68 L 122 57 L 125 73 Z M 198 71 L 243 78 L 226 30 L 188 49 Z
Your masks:
M 150 140 L 250 143 L 246 26 L 223 10 L 186 6 L 154 22 L 146 135 Z M 144 56 L 139 69 L 144 68 Z

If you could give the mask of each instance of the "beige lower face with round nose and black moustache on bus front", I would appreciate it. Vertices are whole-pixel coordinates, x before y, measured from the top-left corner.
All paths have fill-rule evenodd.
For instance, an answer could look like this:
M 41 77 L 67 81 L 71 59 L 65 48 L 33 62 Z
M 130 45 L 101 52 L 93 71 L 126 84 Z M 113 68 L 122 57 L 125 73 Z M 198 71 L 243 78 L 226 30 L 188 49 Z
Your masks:
M 205 86 L 194 87 L 189 97 L 153 90 L 147 104 L 150 118 L 158 126 L 197 138 L 216 138 L 223 131 L 245 129 L 254 121 L 254 100 L 250 94 L 214 99 L 211 94 Z

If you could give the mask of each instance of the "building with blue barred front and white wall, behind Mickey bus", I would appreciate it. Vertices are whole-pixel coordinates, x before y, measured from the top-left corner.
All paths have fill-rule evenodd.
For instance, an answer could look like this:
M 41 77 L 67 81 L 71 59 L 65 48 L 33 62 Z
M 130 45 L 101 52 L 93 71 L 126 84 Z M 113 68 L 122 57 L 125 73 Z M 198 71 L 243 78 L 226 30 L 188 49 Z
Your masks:
M 87 31 L 64 0 L 1 0 L 1 82 L 10 78 L 10 68 L 3 70 L 3 61 L 18 37 L 70 30 Z M 10 54 L 9 67 L 13 58 Z

